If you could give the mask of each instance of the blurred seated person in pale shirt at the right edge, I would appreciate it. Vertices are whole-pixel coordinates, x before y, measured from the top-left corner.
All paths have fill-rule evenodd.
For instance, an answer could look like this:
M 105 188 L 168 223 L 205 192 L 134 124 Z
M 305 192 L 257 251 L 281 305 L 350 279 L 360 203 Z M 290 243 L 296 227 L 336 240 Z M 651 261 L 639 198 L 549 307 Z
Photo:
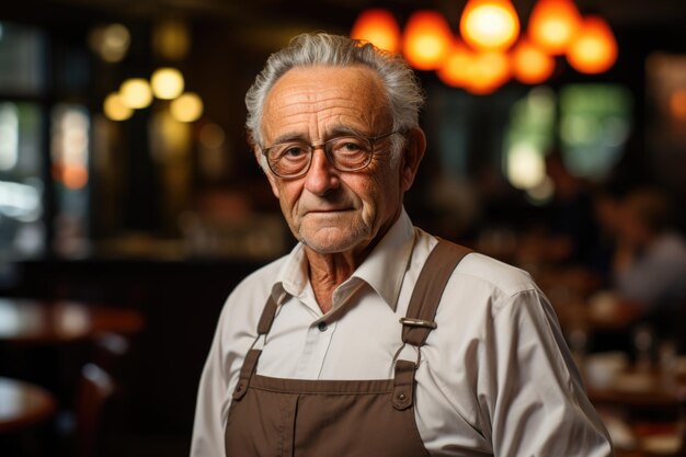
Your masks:
M 618 212 L 613 260 L 616 293 L 664 334 L 686 305 L 686 240 L 672 228 L 668 198 L 659 190 L 629 192 Z

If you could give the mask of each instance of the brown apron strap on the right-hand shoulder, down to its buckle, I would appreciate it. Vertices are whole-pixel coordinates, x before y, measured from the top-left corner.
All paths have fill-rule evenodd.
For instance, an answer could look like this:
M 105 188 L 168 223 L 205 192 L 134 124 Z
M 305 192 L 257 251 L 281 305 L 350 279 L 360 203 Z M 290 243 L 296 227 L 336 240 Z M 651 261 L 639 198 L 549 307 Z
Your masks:
M 402 342 L 421 347 L 436 328 L 434 319 L 441 297 L 453 271 L 471 250 L 449 241 L 438 240 L 428 254 L 412 292 L 408 313 L 400 319 Z

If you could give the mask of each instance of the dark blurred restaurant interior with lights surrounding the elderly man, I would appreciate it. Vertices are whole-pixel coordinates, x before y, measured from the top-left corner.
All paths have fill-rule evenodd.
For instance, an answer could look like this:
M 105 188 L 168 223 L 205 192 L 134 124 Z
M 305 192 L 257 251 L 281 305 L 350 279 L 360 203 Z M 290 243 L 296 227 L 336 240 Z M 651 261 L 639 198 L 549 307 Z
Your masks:
M 573 10 L 549 47 L 546 3 Z M 0 455 L 188 454 L 226 297 L 295 244 L 243 98 L 325 31 L 416 70 L 413 222 L 533 275 L 618 456 L 686 456 L 685 24 L 684 0 L 4 2 Z

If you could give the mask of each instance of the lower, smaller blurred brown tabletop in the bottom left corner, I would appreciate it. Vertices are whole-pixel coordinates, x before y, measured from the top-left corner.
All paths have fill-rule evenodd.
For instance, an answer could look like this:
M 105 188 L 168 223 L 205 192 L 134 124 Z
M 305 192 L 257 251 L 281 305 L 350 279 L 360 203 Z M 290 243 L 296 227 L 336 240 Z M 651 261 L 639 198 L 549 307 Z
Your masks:
M 0 377 L 0 433 L 34 425 L 55 412 L 55 399 L 30 382 Z

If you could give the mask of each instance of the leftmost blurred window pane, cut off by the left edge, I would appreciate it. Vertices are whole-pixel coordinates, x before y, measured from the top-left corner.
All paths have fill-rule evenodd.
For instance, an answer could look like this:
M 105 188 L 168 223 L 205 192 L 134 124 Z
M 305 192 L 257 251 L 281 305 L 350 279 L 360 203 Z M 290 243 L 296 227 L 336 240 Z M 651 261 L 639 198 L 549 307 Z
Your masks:
M 44 253 L 46 39 L 0 22 L 0 260 Z

